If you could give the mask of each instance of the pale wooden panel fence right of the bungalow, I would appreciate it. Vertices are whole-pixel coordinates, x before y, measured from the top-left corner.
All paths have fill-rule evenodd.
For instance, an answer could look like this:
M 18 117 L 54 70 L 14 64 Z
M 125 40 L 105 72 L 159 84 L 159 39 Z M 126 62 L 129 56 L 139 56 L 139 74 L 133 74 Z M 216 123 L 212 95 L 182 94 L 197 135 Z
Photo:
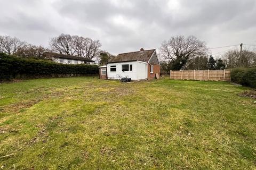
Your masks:
M 230 70 L 181 70 L 170 71 L 174 80 L 230 81 Z

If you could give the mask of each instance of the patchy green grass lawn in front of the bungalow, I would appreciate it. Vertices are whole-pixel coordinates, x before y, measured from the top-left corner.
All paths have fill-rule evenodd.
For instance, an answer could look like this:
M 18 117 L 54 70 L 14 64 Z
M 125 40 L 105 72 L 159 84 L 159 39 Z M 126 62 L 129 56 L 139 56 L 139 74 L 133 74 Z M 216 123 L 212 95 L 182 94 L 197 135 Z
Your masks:
M 256 104 L 229 82 L 0 84 L 0 169 L 256 169 Z

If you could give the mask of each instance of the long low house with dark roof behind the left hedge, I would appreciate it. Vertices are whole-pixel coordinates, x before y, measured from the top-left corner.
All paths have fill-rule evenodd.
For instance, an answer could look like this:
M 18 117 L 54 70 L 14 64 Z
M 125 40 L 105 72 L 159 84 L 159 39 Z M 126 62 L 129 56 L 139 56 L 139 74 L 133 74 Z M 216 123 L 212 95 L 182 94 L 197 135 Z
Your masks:
M 58 54 L 58 53 L 50 53 L 45 52 L 43 54 L 45 58 L 51 58 L 56 63 L 62 64 L 93 64 L 94 61 L 85 58 L 85 57 L 78 57 L 73 55 L 65 55 L 65 54 Z

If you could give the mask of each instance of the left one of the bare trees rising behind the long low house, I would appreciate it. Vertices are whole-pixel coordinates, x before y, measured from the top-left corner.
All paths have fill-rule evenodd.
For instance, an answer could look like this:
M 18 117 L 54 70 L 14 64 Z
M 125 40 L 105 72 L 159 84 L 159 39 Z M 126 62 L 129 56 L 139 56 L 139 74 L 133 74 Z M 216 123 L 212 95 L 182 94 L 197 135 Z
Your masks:
M 69 34 L 61 34 L 58 37 L 54 37 L 50 40 L 50 47 L 53 51 L 73 55 L 73 38 Z

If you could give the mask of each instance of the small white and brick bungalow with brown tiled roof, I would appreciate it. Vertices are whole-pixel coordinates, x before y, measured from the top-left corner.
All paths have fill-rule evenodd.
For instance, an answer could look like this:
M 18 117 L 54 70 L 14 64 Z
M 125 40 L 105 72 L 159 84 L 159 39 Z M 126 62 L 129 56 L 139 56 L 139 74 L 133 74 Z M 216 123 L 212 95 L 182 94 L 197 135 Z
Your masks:
M 119 79 L 121 75 L 132 80 L 151 80 L 156 73 L 160 74 L 160 64 L 155 49 L 141 48 L 138 52 L 118 54 L 107 65 L 99 67 L 100 79 Z

